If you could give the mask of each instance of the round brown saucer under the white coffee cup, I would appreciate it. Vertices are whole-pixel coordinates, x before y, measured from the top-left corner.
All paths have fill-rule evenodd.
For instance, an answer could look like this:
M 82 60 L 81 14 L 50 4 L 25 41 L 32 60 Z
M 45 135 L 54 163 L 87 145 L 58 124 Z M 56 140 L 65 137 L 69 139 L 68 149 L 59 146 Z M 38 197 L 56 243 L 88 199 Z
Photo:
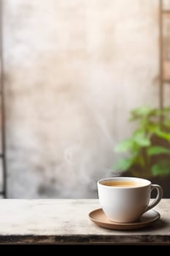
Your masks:
M 150 210 L 145 212 L 142 217 L 139 218 L 136 222 L 131 223 L 120 223 L 120 222 L 112 222 L 109 220 L 104 211 L 101 208 L 98 208 L 94 211 L 91 211 L 88 214 L 90 220 L 96 223 L 100 227 L 106 227 L 112 230 L 134 230 L 142 227 L 147 227 L 152 222 L 155 222 L 160 218 L 160 214 L 158 211 Z

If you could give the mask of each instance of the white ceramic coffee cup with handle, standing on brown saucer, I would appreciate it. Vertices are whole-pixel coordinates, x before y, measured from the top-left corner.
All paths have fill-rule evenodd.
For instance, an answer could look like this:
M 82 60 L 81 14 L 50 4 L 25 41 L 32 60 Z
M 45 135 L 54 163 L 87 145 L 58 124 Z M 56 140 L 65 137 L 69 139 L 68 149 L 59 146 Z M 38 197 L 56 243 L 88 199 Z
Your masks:
M 134 182 L 136 187 L 113 187 L 110 181 Z M 145 211 L 156 206 L 163 196 L 159 185 L 144 178 L 116 177 L 98 181 L 98 198 L 104 214 L 113 222 L 135 222 Z M 150 193 L 157 189 L 157 197 L 150 203 Z

